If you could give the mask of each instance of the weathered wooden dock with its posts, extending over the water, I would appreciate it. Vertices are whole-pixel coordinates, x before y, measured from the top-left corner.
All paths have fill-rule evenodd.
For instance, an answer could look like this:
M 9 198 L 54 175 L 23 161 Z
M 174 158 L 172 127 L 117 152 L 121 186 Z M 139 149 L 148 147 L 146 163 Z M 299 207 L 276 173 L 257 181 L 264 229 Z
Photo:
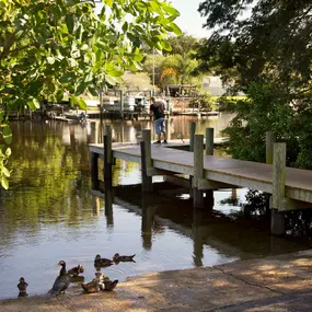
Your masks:
M 143 130 L 140 145 L 109 145 L 109 135 L 105 137 L 108 138 L 106 157 L 103 145 L 90 146 L 93 181 L 97 178 L 97 159 L 104 158 L 104 164 L 106 167 L 111 164 L 111 170 L 113 159 L 140 163 L 145 192 L 152 190 L 154 175 L 164 175 L 173 183 L 188 185 L 194 207 L 198 208 L 205 208 L 205 198 L 211 198 L 213 189 L 247 187 L 262 190 L 271 195 L 271 230 L 276 234 L 285 232 L 284 211 L 312 208 L 312 171 L 286 167 L 285 143 L 271 141 L 271 146 L 267 145 L 268 155 L 274 150 L 273 164 L 269 164 L 215 157 L 211 148 L 213 131 L 209 130 L 206 132 L 206 142 L 203 135 L 194 135 L 184 145 L 152 145 L 150 130 Z M 187 146 L 190 151 L 183 150 Z M 109 180 L 112 173 L 104 170 L 105 175 Z

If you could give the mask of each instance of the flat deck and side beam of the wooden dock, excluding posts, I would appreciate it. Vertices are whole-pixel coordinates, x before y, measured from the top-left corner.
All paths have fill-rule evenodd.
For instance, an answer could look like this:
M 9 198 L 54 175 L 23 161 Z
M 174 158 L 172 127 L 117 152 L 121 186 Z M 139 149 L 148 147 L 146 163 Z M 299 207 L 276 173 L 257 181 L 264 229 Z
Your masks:
M 151 145 L 153 167 L 173 174 L 193 175 L 194 153 L 176 149 L 181 146 L 183 145 Z M 113 143 L 112 151 L 115 159 L 141 163 L 139 145 Z M 91 145 L 90 152 L 103 158 L 103 145 Z M 229 187 L 249 187 L 273 194 L 271 164 L 204 155 L 204 178 L 230 185 Z M 204 183 L 199 188 L 207 187 Z M 285 189 L 287 198 L 312 203 L 312 171 L 286 167 Z

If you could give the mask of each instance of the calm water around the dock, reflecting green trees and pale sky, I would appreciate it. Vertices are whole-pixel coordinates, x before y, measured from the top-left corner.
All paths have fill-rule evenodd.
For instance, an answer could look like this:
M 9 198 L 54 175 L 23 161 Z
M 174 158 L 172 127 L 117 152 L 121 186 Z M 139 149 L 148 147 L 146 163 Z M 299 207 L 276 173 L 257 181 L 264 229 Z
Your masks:
M 188 136 L 188 117 L 174 117 L 171 139 Z M 197 120 L 197 119 L 194 119 Z M 229 116 L 197 120 L 198 132 Z M 150 122 L 114 122 L 115 141 L 136 141 L 136 132 Z M 138 164 L 118 161 L 112 209 L 92 196 L 88 143 L 102 139 L 99 120 L 70 125 L 61 122 L 12 123 L 13 155 L 10 189 L 0 195 L 0 298 L 18 296 L 23 276 L 28 293 L 48 291 L 60 259 L 68 268 L 82 264 L 85 280 L 93 278 L 96 254 L 112 258 L 136 254 L 136 263 L 104 269 L 112 279 L 125 280 L 150 271 L 212 266 L 240 258 L 304 249 L 303 243 L 270 238 L 266 221 L 236 218 L 241 211 L 231 198 L 244 200 L 246 189 L 215 192 L 215 212 L 193 211 L 183 189 L 161 186 L 152 198 L 142 198 Z M 221 201 L 223 204 L 221 204 Z M 78 286 L 77 286 L 78 287 Z

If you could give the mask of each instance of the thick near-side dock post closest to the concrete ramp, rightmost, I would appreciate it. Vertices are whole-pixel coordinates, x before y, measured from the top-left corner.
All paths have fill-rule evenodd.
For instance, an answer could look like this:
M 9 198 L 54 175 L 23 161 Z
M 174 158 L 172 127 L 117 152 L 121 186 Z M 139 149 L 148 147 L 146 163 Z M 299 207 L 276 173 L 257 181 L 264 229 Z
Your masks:
M 274 235 L 282 235 L 285 234 L 285 213 L 279 210 L 282 209 L 282 200 L 285 199 L 286 143 L 274 143 L 273 151 L 270 232 Z

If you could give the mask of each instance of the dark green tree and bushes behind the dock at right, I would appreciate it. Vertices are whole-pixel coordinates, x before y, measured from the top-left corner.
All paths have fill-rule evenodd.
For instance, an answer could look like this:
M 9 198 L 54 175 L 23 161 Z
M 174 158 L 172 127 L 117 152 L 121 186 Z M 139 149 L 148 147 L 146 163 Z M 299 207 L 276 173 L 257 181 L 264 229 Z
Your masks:
M 311 10 L 311 2 L 297 0 L 199 5 L 215 30 L 200 42 L 199 67 L 221 76 L 229 95 L 246 94 L 222 103 L 236 114 L 226 129 L 234 158 L 264 161 L 265 132 L 275 131 L 287 142 L 288 165 L 312 169 Z

